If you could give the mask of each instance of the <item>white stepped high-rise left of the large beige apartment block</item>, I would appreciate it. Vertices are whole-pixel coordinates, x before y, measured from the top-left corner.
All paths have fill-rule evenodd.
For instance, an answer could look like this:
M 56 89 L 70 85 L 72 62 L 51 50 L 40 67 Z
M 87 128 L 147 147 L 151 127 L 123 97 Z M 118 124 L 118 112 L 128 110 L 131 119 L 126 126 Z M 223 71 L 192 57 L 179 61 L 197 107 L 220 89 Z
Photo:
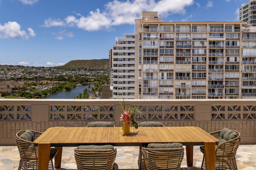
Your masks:
M 113 98 L 134 99 L 134 34 L 124 34 L 124 38 L 117 38 L 113 44 L 111 56 L 111 86 Z

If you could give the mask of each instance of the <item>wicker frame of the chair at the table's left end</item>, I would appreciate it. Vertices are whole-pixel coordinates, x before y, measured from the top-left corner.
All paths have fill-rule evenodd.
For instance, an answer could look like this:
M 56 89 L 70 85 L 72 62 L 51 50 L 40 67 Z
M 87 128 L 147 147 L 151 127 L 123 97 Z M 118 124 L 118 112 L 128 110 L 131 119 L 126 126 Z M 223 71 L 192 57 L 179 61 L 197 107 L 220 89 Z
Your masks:
M 21 139 L 19 136 L 26 130 L 21 130 L 16 133 L 16 143 L 20 152 L 20 164 L 18 170 L 37 170 L 38 169 L 38 147 L 34 146 L 33 142 Z M 32 131 L 34 139 L 37 139 L 42 133 Z M 55 152 L 53 152 L 55 151 Z M 53 153 L 53 154 L 52 154 Z M 49 170 L 54 170 L 52 159 L 56 156 L 58 150 L 51 149 L 49 158 Z

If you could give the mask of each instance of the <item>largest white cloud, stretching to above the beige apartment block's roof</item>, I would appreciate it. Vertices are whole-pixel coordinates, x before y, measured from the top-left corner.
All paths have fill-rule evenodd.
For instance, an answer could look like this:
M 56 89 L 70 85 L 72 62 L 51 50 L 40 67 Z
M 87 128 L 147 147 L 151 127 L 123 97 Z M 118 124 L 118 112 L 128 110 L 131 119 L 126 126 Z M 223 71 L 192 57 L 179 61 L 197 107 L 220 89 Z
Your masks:
M 193 3 L 194 0 L 113 0 L 105 4 L 103 11 L 97 8 L 87 16 L 73 12 L 75 16 L 70 15 L 63 20 L 49 18 L 44 20 L 44 27 L 69 26 L 86 31 L 109 29 L 111 26 L 134 24 L 134 19 L 141 17 L 141 11 L 158 11 L 160 16 L 185 14 L 185 8 Z

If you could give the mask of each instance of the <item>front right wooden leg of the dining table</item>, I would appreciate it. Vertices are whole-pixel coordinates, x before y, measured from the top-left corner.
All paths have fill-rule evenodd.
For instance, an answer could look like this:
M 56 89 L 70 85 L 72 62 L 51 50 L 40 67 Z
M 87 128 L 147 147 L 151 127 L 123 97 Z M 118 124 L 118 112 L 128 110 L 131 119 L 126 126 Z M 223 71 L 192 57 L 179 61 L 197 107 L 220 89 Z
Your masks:
M 204 156 L 207 170 L 215 170 L 215 142 L 204 143 Z

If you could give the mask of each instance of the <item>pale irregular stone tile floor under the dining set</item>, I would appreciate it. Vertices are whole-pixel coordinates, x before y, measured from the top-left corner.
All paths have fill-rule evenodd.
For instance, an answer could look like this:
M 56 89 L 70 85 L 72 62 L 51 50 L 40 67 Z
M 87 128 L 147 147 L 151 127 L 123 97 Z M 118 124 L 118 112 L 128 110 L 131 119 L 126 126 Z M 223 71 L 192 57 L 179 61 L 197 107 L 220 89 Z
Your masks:
M 116 164 L 119 169 L 137 169 L 139 147 L 116 147 Z M 185 150 L 186 152 L 186 150 Z M 194 147 L 194 166 L 201 167 L 203 154 L 199 147 Z M 240 145 L 236 155 L 239 170 L 256 170 L 256 145 Z M 19 152 L 15 146 L 0 146 L 0 170 L 17 170 L 20 160 Z M 181 167 L 186 167 L 186 153 Z M 74 170 L 76 161 L 74 147 L 64 147 L 61 168 L 58 170 Z

